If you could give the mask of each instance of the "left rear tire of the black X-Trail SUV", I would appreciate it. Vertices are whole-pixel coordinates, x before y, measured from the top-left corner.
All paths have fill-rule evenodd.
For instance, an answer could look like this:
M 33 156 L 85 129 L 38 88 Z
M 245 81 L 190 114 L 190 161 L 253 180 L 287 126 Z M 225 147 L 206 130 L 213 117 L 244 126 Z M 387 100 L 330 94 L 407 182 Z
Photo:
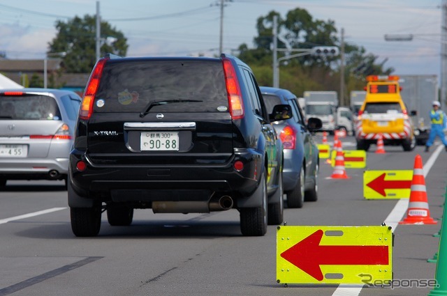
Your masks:
M 101 207 L 70 208 L 71 230 L 79 237 L 96 236 L 101 228 Z

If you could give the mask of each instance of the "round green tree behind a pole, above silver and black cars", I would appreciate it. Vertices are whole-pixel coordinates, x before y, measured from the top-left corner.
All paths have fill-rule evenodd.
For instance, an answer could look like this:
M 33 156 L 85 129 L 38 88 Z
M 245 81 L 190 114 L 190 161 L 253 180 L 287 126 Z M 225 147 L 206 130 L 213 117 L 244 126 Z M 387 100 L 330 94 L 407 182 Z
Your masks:
M 57 21 L 56 37 L 49 43 L 48 52 L 66 52 L 64 68 L 68 73 L 89 73 L 96 63 L 96 17 L 85 15 L 74 17 L 68 22 Z M 101 56 L 107 53 L 126 56 L 127 39 L 124 34 L 112 28 L 108 22 L 101 22 L 101 40 L 114 38 L 114 42 L 101 42 Z

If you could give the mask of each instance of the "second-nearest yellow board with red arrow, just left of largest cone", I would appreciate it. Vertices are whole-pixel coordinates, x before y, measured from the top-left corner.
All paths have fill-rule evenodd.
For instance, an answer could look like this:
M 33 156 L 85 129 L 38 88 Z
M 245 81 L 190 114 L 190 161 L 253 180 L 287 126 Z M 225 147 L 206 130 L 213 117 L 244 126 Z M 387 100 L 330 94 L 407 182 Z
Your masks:
M 412 170 L 363 172 L 363 197 L 366 199 L 409 198 Z

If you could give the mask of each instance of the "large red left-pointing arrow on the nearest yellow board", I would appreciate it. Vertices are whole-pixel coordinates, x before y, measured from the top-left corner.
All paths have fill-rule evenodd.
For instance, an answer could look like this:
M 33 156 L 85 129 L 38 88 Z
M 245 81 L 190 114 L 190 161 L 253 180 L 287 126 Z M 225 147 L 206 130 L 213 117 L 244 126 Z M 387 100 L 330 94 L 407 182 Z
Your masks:
M 319 229 L 281 257 L 318 281 L 323 281 L 320 265 L 388 265 L 388 246 L 321 246 L 321 237 Z

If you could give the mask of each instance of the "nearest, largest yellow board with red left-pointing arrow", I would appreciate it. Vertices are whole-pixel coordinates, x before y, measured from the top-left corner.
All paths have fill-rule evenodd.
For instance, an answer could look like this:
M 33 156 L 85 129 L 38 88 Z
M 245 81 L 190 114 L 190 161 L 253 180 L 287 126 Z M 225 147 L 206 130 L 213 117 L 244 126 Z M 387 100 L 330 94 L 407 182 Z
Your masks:
M 278 226 L 277 283 L 376 285 L 393 280 L 388 226 Z

